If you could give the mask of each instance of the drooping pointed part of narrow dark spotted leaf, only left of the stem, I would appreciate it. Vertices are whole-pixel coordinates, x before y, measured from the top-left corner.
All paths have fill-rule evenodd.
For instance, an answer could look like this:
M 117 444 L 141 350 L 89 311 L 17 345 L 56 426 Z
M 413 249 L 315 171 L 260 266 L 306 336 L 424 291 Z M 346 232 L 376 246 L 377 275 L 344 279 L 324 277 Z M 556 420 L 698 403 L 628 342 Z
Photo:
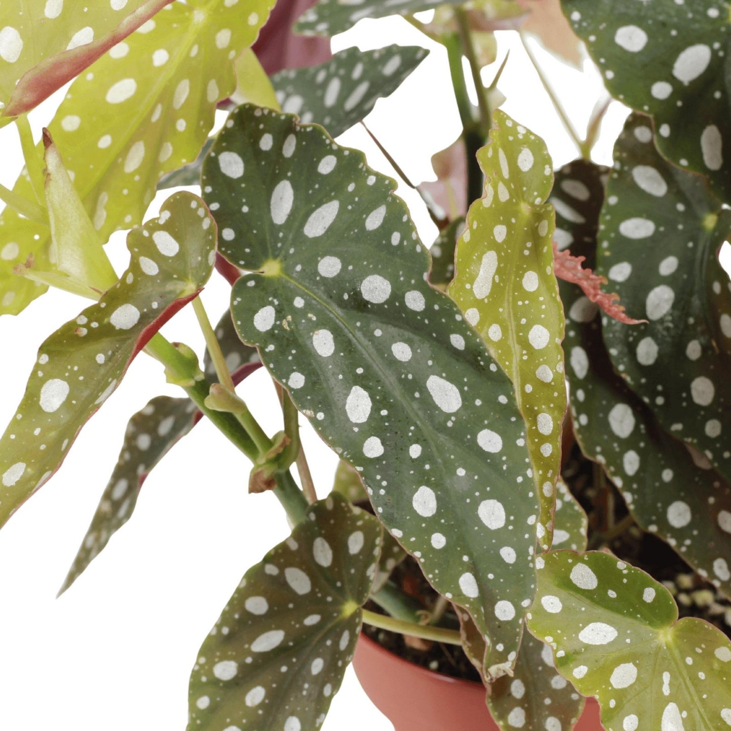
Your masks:
M 200 417 L 189 398 L 153 398 L 129 420 L 124 445 L 91 525 L 61 586 L 62 594 L 132 517 L 145 478 Z

